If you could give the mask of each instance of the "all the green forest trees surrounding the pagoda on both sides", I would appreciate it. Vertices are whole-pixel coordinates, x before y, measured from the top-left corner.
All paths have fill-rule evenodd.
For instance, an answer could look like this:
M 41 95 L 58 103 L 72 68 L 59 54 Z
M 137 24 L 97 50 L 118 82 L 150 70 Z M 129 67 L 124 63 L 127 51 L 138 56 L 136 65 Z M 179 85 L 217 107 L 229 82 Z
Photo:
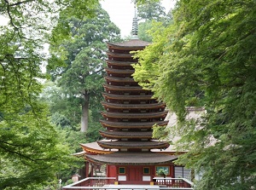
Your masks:
M 153 43 L 134 78 L 177 114 L 179 164 L 201 173 L 196 189 L 255 188 L 255 1 L 180 0 L 169 14 L 138 3 L 138 35 Z M 0 188 L 57 189 L 83 165 L 79 143 L 100 138 L 105 42 L 123 39 L 95 0 L 2 0 L 0 11 Z M 191 106 L 206 115 L 187 120 Z

